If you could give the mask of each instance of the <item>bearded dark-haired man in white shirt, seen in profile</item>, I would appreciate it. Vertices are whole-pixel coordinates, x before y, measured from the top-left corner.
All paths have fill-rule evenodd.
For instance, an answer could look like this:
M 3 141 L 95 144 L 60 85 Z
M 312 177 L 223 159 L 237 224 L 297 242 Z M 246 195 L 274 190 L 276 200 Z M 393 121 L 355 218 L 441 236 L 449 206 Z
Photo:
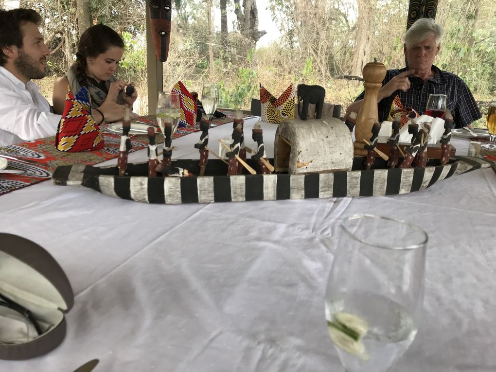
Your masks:
M 31 79 L 45 77 L 50 51 L 32 9 L 0 9 L 0 146 L 54 135 L 60 115 Z M 124 106 L 108 102 L 94 111 L 96 123 L 124 116 Z

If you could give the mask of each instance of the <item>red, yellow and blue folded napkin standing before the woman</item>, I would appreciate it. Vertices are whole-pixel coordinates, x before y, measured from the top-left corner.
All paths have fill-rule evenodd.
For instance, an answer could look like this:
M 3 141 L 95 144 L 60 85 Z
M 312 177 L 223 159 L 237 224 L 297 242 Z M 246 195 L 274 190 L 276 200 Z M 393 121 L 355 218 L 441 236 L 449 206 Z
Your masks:
M 59 151 L 80 152 L 103 148 L 100 127 L 91 116 L 91 99 L 82 87 L 76 96 L 67 85 L 65 107 L 55 135 L 55 148 Z

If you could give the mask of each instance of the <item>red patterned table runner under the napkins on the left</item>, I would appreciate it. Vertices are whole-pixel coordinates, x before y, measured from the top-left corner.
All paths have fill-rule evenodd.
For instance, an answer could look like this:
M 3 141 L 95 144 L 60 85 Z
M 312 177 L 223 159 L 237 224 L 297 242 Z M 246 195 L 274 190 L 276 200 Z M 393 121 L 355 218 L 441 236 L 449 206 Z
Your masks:
M 225 112 L 225 118 L 213 119 L 217 125 L 232 123 L 234 113 Z M 245 118 L 248 115 L 244 116 Z M 139 123 L 156 125 L 155 116 L 144 116 L 136 118 Z M 158 126 L 157 126 L 158 127 Z M 0 147 L 0 153 L 10 155 L 21 160 L 36 162 L 36 164 L 26 164 L 15 160 L 8 160 L 7 169 L 21 170 L 23 174 L 0 173 L 0 195 L 7 192 L 31 186 L 52 177 L 54 169 L 61 165 L 85 164 L 94 165 L 106 160 L 117 158 L 121 136 L 110 131 L 106 125 L 102 125 L 105 147 L 101 150 L 85 152 L 61 152 L 55 149 L 55 136 L 40 138 L 34 141 L 26 141 L 14 145 Z M 179 138 L 186 134 L 199 131 L 199 125 L 190 127 L 180 127 L 174 133 L 173 138 Z M 162 136 L 160 136 L 162 138 Z M 132 149 L 130 152 L 141 150 L 148 145 L 146 135 L 135 135 L 131 137 Z

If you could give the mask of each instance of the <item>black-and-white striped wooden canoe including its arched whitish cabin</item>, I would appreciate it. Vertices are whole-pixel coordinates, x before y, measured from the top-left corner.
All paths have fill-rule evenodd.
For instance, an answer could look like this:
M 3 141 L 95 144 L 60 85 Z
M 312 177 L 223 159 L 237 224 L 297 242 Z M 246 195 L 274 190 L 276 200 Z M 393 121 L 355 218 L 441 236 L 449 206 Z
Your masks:
M 364 137 L 370 140 L 370 133 Z M 209 159 L 203 168 L 198 159 L 177 159 L 171 160 L 167 168 L 163 166 L 166 173 L 156 173 L 156 177 L 150 177 L 149 162 L 144 162 L 127 164 L 124 176 L 116 166 L 60 166 L 52 179 L 54 185 L 81 185 L 145 203 L 212 203 L 404 194 L 495 164 L 469 156 L 451 156 L 447 163 L 441 163 L 439 154 L 427 156 L 425 165 L 402 168 L 407 150 L 401 150 L 400 167 L 388 168 L 388 161 L 381 156 L 367 161 L 363 156 L 354 157 L 350 130 L 335 118 L 279 124 L 273 160 L 266 158 L 262 131 L 256 125 L 253 140 L 257 156 L 243 161 L 246 165 L 240 168 L 241 174 L 230 175 L 229 163 L 224 159 Z

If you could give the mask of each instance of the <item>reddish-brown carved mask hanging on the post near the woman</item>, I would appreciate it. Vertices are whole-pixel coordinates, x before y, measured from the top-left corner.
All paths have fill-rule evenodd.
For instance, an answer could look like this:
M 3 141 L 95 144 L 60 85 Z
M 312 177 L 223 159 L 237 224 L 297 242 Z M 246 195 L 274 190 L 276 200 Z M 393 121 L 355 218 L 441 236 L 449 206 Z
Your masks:
M 157 60 L 167 61 L 171 40 L 172 0 L 149 0 L 150 26 Z

